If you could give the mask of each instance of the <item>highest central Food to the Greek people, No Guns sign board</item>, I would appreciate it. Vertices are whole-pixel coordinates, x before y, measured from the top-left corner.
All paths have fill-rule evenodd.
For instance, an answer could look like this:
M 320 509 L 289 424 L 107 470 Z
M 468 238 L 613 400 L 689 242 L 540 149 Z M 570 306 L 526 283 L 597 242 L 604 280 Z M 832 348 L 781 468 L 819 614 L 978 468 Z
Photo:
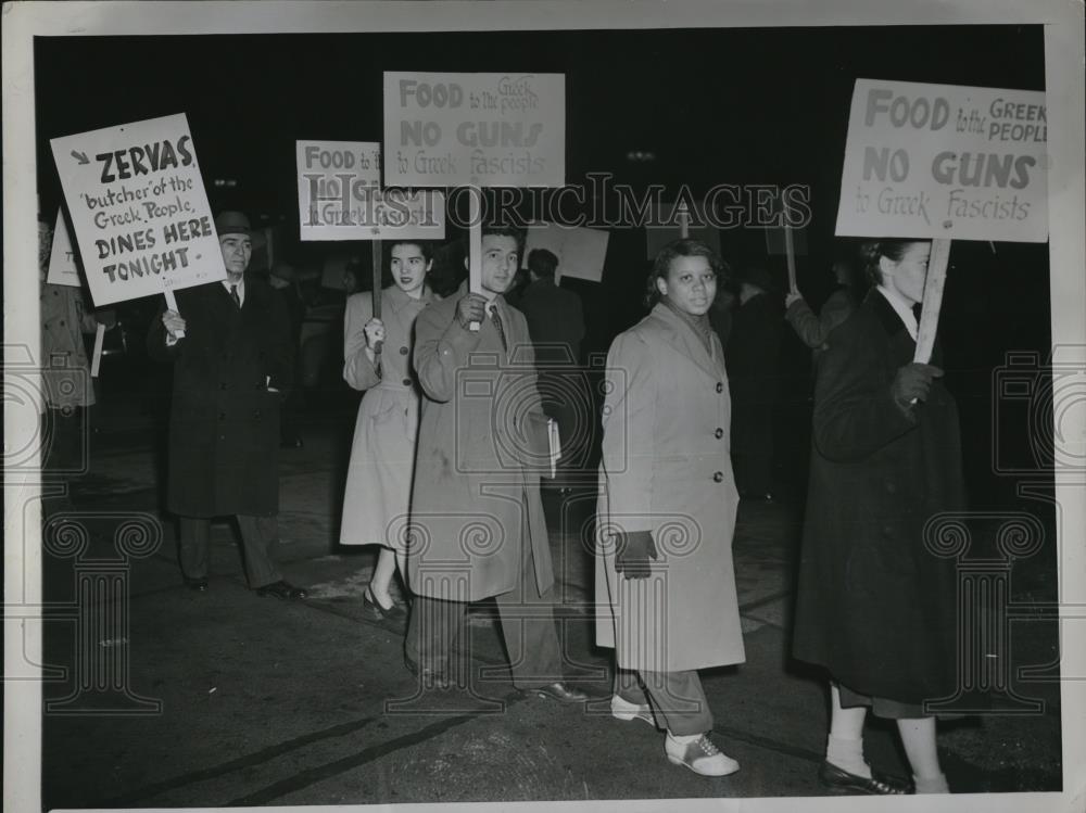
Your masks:
M 388 187 L 560 187 L 563 74 L 384 74 Z

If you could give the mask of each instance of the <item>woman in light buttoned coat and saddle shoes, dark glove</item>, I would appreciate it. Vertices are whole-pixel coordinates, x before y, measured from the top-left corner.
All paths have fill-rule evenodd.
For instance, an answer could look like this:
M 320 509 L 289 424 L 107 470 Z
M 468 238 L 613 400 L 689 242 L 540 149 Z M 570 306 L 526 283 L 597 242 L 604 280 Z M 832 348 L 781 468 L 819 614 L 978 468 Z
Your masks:
M 698 669 L 742 663 L 731 405 L 708 320 L 723 264 L 680 240 L 656 258 L 652 313 L 611 344 L 603 409 L 596 641 L 616 650 L 611 713 L 660 722 L 669 761 L 738 764 L 709 740 Z

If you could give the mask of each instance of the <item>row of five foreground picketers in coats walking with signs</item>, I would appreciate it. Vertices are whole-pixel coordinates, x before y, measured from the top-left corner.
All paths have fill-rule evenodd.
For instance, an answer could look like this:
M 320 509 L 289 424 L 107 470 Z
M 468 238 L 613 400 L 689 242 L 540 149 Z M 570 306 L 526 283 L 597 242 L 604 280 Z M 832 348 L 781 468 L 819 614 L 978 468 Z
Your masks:
M 228 281 L 179 293 L 186 318 L 165 312 L 149 338 L 176 364 L 169 507 L 185 518 L 182 572 L 206 588 L 206 518 L 238 515 L 250 586 L 304 598 L 270 554 L 278 405 L 291 385 L 287 320 L 265 287 L 242 278 L 255 239 L 248 220 L 224 213 L 216 227 Z M 381 318 L 363 292 L 349 298 L 344 323 L 343 376 L 365 395 L 341 543 L 381 547 L 366 612 L 406 626 L 406 668 L 424 687 L 447 688 L 469 678 L 454 659 L 467 607 L 493 597 L 514 685 L 582 703 L 588 695 L 565 679 L 554 621 L 540 496 L 547 416 L 532 336 L 503 297 L 522 236 L 484 228 L 480 290 L 465 282 L 443 300 L 427 285 L 427 244 L 388 249 L 393 285 L 381 292 Z M 952 688 L 954 571 L 924 549 L 922 526 L 959 507 L 962 488 L 938 350 L 935 365 L 911 361 L 911 308 L 930 250 L 925 241 L 868 244 L 871 292 L 818 335 L 794 655 L 830 675 L 819 778 L 836 791 L 947 790 L 923 701 Z M 710 738 L 698 670 L 745 659 L 731 551 L 740 499 L 732 404 L 708 317 L 724 268 L 696 240 L 657 256 L 649 314 L 608 353 L 596 509 L 596 639 L 615 649 L 611 714 L 662 727 L 666 758 L 708 776 L 740 766 Z M 390 589 L 397 572 L 409 607 Z M 898 721 L 911 780 L 864 761 L 868 707 Z

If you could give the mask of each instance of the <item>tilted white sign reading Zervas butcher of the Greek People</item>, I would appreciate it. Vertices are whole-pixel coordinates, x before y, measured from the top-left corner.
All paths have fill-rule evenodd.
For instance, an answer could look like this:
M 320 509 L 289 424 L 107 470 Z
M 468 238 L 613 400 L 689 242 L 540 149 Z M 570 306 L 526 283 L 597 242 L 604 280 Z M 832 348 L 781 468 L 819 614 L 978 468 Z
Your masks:
M 50 143 L 97 306 L 225 279 L 184 113 Z

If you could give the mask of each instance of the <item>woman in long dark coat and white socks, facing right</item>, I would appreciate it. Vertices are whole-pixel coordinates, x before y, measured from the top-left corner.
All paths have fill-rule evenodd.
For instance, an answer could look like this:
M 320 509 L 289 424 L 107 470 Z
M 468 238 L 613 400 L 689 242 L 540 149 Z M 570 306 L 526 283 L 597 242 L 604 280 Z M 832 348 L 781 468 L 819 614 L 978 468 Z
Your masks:
M 830 673 L 819 779 L 842 792 L 911 790 L 864 761 L 869 707 L 896 720 L 915 791 L 947 792 L 923 703 L 954 694 L 957 574 L 925 526 L 960 510 L 964 487 L 938 344 L 932 365 L 912 360 L 930 254 L 929 241 L 864 244 L 872 289 L 818 369 L 793 653 Z

